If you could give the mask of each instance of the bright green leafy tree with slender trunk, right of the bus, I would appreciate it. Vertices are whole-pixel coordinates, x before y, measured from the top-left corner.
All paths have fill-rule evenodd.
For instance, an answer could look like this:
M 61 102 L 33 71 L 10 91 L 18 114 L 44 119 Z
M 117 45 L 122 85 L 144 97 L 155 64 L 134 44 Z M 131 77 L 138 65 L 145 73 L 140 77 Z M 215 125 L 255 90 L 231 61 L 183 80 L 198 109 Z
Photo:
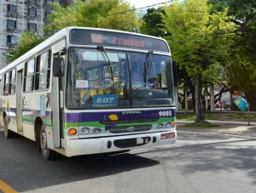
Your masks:
M 210 13 L 207 0 L 176 1 L 165 6 L 162 14 L 166 29 L 171 35 L 166 37 L 172 48 L 172 56 L 184 67 L 195 82 L 195 123 L 204 122 L 202 104 L 202 73 L 217 60 L 229 55 L 229 36 L 233 29 L 227 22 L 227 9 Z

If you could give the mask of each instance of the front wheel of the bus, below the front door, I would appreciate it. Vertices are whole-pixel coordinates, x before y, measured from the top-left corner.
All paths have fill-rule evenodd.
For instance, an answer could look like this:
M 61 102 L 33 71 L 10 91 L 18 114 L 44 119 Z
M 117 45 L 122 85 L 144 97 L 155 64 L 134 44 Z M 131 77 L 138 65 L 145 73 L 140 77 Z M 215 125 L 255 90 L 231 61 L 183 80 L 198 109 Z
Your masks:
M 40 132 L 40 148 L 45 160 L 52 160 L 55 158 L 55 151 L 50 150 L 47 145 L 47 137 L 46 137 L 44 124 L 42 125 L 41 132 Z

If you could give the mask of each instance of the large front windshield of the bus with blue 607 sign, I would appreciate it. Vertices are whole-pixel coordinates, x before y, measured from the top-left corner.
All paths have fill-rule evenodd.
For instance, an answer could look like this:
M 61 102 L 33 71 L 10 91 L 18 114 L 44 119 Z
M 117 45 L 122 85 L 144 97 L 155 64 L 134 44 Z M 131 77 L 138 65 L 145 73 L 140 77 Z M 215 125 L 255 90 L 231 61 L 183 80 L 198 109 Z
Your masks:
M 166 55 L 69 48 L 67 109 L 174 105 L 171 58 Z

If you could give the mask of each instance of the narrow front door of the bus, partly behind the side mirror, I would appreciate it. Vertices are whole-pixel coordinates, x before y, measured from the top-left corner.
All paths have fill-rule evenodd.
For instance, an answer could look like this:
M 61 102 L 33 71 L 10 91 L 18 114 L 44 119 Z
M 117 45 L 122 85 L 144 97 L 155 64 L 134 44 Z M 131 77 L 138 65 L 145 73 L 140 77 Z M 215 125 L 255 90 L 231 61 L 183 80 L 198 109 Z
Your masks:
M 61 42 L 56 43 L 53 46 L 54 58 L 60 57 L 65 59 L 65 52 L 61 51 L 66 48 L 66 40 L 63 39 Z M 54 146 L 55 148 L 63 147 L 64 141 L 61 139 L 63 136 L 63 114 L 64 114 L 64 78 L 63 77 L 52 77 L 52 88 L 51 88 L 51 109 L 52 109 L 52 127 L 54 133 Z

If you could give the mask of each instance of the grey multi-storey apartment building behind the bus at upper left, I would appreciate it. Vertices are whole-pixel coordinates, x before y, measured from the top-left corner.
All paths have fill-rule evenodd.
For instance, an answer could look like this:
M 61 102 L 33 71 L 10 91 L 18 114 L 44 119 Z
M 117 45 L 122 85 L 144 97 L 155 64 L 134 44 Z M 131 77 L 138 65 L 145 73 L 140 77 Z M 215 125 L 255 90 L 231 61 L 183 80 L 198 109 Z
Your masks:
M 0 69 L 9 64 L 6 56 L 17 46 L 23 31 L 43 34 L 53 2 L 65 7 L 73 3 L 72 0 L 0 0 Z

